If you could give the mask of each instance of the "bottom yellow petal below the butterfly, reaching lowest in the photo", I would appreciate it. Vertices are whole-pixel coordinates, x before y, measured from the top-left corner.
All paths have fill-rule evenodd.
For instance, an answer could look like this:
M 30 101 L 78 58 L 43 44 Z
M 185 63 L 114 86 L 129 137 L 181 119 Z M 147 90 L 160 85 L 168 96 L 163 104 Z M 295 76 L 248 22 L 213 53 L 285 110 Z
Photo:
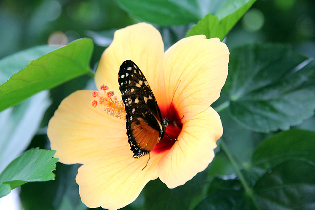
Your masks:
M 150 180 L 158 177 L 158 155 L 134 159 L 126 152 L 111 151 L 106 158 L 85 164 L 78 170 L 77 183 L 82 202 L 88 207 L 109 210 L 133 202 Z M 142 170 L 143 169 L 143 170 Z

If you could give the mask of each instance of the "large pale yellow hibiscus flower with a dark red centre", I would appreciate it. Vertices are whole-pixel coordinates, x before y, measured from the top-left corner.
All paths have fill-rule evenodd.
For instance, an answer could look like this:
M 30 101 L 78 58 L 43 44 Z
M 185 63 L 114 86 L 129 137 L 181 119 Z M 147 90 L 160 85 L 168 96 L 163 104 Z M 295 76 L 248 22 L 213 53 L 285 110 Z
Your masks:
M 118 70 L 125 60 L 132 60 L 143 72 L 162 116 L 171 122 L 166 134 L 178 140 L 164 135 L 147 165 L 148 155 L 132 157 L 126 134 L 118 84 Z M 221 119 L 210 105 L 220 96 L 228 61 L 228 48 L 218 38 L 187 37 L 164 53 L 162 37 L 150 24 L 117 30 L 95 73 L 99 92 L 93 96 L 98 105 L 91 106 L 92 90 L 76 91 L 62 101 L 48 124 L 55 157 L 64 164 L 82 164 L 76 177 L 82 202 L 116 210 L 133 202 L 150 180 L 159 177 L 175 188 L 203 171 L 223 133 Z M 118 104 L 119 114 L 110 111 L 108 103 Z

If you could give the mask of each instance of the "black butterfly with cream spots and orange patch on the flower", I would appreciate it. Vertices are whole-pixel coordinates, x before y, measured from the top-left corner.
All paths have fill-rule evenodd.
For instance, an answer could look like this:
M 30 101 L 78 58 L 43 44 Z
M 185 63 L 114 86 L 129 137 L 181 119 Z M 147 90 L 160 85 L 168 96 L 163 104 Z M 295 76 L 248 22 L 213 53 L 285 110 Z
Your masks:
M 149 154 L 163 138 L 169 120 L 162 118 L 148 81 L 133 61 L 121 64 L 118 82 L 126 110 L 130 150 L 134 158 L 140 158 Z

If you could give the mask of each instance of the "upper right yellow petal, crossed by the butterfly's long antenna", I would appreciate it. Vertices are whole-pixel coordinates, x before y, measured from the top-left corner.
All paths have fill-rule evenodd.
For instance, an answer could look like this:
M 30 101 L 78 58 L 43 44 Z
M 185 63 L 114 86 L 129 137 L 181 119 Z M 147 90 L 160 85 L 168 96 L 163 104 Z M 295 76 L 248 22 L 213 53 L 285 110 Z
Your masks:
M 228 72 L 229 51 L 218 38 L 204 35 L 181 39 L 165 52 L 167 101 L 174 90 L 174 105 L 184 120 L 205 110 L 221 93 Z

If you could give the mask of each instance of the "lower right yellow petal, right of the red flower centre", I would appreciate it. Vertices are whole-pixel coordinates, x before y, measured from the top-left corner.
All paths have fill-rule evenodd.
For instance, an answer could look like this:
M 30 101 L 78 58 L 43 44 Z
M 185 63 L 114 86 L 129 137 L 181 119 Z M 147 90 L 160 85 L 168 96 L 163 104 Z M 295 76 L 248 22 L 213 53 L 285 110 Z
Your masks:
M 159 162 L 160 180 L 174 188 L 203 171 L 212 161 L 222 134 L 221 119 L 211 107 L 186 120 L 178 141 Z

